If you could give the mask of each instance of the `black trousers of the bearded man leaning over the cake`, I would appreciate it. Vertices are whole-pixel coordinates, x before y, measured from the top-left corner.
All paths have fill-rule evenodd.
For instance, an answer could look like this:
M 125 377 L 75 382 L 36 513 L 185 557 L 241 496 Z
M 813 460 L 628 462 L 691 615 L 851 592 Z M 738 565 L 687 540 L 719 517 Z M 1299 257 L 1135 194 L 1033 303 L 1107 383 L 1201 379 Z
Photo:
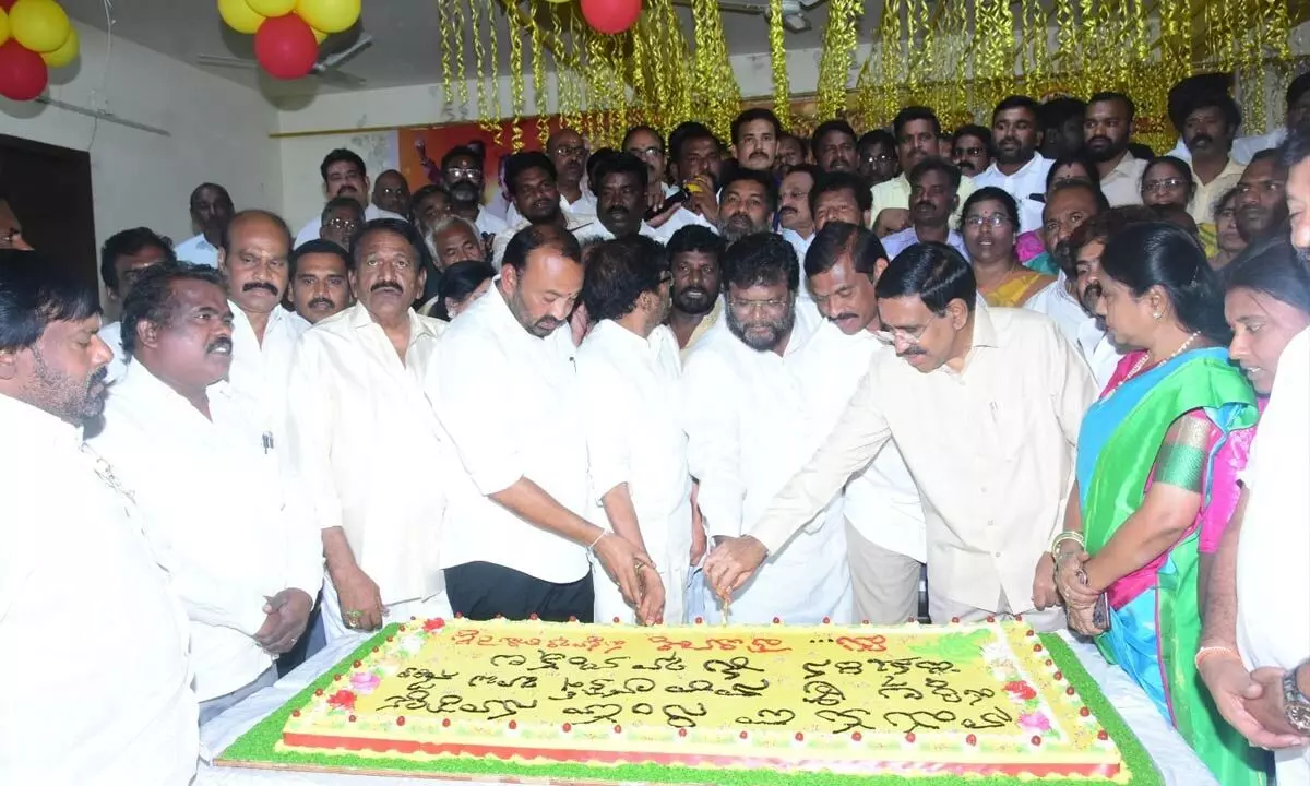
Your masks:
M 592 622 L 596 595 L 591 574 L 570 584 L 553 584 L 490 562 L 466 562 L 445 569 L 445 592 L 455 613 L 469 620 L 527 620 Z

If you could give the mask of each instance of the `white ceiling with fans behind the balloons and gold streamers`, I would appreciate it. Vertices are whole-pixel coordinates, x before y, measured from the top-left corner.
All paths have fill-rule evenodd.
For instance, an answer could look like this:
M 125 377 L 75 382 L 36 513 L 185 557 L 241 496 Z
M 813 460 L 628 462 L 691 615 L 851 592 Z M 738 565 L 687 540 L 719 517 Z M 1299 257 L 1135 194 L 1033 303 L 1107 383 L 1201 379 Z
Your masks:
M 440 48 L 438 3 L 455 0 L 363 0 L 363 29 L 373 37 L 373 45 L 347 63 L 341 71 L 367 80 L 356 89 L 388 88 L 440 81 Z M 540 0 L 538 0 L 540 1 Z M 812 1 L 812 0 L 810 0 Z M 807 5 L 810 4 L 807 1 Z M 60 0 L 68 14 L 88 25 L 105 29 L 106 0 Z M 675 0 L 680 3 L 680 0 Z M 724 0 L 732 7 L 768 7 L 768 0 Z M 527 8 L 527 0 L 521 0 Z M 113 0 L 111 14 L 115 35 L 156 50 L 178 60 L 195 63 L 196 55 L 254 58 L 254 37 L 241 35 L 228 29 L 219 18 L 214 0 Z M 683 16 L 688 39 L 692 18 L 686 8 Z M 812 26 L 804 33 L 787 33 L 787 48 L 816 47 L 821 43 L 827 24 L 824 5 L 806 12 Z M 503 14 L 502 14 L 503 17 Z M 730 54 L 755 54 L 769 50 L 768 22 L 764 16 L 723 13 L 723 28 Z M 343 48 L 358 31 L 330 38 L 325 48 Z M 500 72 L 508 71 L 507 31 L 499 25 Z M 525 46 L 525 50 L 528 47 Z M 466 67 L 473 64 L 472 41 L 465 54 Z M 252 68 L 200 66 L 206 71 L 233 81 L 258 85 L 270 94 L 303 94 L 314 90 L 339 90 L 318 79 L 296 83 L 278 83 L 262 77 Z

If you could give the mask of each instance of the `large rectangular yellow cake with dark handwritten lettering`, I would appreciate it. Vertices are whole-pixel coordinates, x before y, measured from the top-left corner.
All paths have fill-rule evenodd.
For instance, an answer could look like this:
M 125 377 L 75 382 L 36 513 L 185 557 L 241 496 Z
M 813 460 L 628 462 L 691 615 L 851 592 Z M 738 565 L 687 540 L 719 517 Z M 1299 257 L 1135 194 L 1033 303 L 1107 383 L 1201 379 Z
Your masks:
M 295 709 L 280 749 L 1129 778 L 1024 624 L 415 620 L 346 665 Z

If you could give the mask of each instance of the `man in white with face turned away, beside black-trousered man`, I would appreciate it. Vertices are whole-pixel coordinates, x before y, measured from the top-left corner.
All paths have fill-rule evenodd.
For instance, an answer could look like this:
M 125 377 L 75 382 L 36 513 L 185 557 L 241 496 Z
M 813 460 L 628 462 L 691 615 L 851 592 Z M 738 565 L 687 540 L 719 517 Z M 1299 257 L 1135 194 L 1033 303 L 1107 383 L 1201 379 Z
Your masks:
M 578 350 L 591 502 L 604 511 L 596 521 L 608 521 L 610 532 L 655 562 L 658 579 L 642 574 L 646 624 L 684 620 L 688 571 L 705 553 L 705 529 L 692 515 L 679 403 L 683 364 L 663 325 L 669 283 L 664 249 L 630 237 L 588 253 L 582 291 L 596 322 Z M 593 566 L 591 575 L 596 620 L 637 621 L 604 569 Z

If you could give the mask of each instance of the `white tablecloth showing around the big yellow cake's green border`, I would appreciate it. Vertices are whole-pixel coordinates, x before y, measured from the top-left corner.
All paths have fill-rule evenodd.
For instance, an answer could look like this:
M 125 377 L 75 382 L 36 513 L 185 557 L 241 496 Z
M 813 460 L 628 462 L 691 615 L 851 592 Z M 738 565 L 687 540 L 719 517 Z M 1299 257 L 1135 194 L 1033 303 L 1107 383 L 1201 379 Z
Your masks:
M 1068 634 L 1064 635 L 1069 647 L 1078 655 L 1087 673 L 1100 685 L 1100 689 L 1110 698 L 1119 714 L 1141 740 L 1146 752 L 1155 761 L 1155 766 L 1165 777 L 1167 786 L 1218 786 L 1200 758 L 1192 753 L 1183 738 L 1178 736 L 1171 726 L 1155 711 L 1154 705 L 1146 698 L 1141 688 L 1129 679 L 1120 668 L 1112 667 L 1100 656 L 1095 647 L 1074 641 Z M 263 720 L 278 707 L 287 703 L 292 696 L 300 693 L 307 685 L 318 679 L 341 659 L 346 658 L 358 641 L 339 642 L 335 647 L 328 647 L 301 664 L 271 688 L 265 688 L 250 698 L 219 715 L 200 728 L 200 744 L 215 756 L 236 741 L 242 734 Z M 447 781 L 448 782 L 448 781 Z M 434 781 L 427 778 L 381 778 L 371 776 L 334 776 L 326 773 L 296 773 L 271 772 L 231 766 L 214 766 L 200 764 L 196 786 L 291 786 L 297 783 L 314 783 L 324 786 L 431 786 Z M 472 782 L 468 786 L 485 786 Z

